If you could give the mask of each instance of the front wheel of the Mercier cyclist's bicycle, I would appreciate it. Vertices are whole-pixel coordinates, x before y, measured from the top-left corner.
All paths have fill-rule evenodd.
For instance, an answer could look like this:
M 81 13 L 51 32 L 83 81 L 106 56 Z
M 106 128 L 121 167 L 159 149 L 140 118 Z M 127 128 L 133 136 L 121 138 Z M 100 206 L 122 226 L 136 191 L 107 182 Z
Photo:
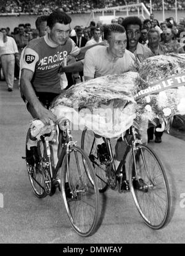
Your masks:
M 65 209 L 73 229 L 80 236 L 90 236 L 99 221 L 99 190 L 91 162 L 82 149 L 70 148 L 59 175 Z M 68 188 L 65 185 L 67 180 Z

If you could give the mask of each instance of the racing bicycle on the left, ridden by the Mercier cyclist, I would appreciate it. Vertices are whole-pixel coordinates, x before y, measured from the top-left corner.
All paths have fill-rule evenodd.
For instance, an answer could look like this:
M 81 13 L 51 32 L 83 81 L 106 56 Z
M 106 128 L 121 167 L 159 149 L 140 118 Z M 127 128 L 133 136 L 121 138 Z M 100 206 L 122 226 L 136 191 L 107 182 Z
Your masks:
M 30 128 L 27 141 L 28 136 Z M 100 212 L 99 188 L 92 163 L 86 153 L 76 146 L 76 141 L 72 140 L 70 122 L 65 120 L 60 125 L 59 160 L 54 168 L 50 143 L 53 136 L 49 133 L 40 137 L 36 147 L 39 161 L 33 164 L 30 164 L 26 143 L 25 160 L 31 188 L 38 198 L 54 195 L 56 188 L 59 188 L 73 229 L 80 236 L 90 236 L 96 230 Z

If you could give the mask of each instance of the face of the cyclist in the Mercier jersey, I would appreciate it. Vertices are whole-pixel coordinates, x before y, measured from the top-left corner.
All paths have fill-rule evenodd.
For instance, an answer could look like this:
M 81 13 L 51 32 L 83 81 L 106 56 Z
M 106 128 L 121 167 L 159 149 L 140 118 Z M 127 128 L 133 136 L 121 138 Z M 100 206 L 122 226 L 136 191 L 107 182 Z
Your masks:
M 70 24 L 60 24 L 56 23 L 50 31 L 51 40 L 58 45 L 65 45 L 68 37 L 70 35 Z

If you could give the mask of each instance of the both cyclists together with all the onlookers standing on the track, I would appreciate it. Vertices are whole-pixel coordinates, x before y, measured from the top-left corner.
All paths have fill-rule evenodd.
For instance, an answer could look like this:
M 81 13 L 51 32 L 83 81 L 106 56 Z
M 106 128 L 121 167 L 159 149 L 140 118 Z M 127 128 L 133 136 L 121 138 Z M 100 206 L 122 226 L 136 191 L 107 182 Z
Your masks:
M 32 117 L 41 119 L 45 124 L 54 121 L 55 117 L 41 102 L 51 102 L 73 84 L 83 79 L 131 71 L 135 63 L 139 64 L 151 56 L 185 52 L 182 39 L 184 18 L 176 24 L 173 17 L 169 17 L 159 24 L 154 14 L 143 22 L 137 16 L 119 17 L 109 25 L 96 24 L 92 20 L 89 27 L 76 25 L 73 30 L 70 22 L 71 18 L 58 10 L 38 17 L 36 30 L 31 29 L 30 24 L 19 24 L 11 35 L 7 28 L 1 28 L 1 66 L 8 91 L 13 90 L 14 73 L 18 78 L 21 71 L 22 99 Z M 67 86 L 64 86 L 65 79 Z M 148 129 L 148 124 L 145 128 L 138 131 L 143 143 L 153 139 L 154 134 L 155 143 L 162 141 L 160 121 L 156 128 Z M 101 141 L 99 136 L 97 141 Z M 28 151 L 34 148 L 31 143 Z M 99 154 L 104 154 L 103 143 L 98 144 Z M 124 147 L 124 141 L 118 140 L 115 150 L 117 164 Z M 30 152 L 30 155 L 33 154 Z M 126 177 L 123 180 L 123 190 L 128 190 Z

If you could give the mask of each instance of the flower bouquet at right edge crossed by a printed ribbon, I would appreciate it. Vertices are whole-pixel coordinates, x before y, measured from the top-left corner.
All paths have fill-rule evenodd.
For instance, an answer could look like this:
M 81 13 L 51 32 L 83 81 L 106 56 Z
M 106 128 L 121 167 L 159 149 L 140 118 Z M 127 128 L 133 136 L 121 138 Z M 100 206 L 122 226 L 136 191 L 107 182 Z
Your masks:
M 135 98 L 137 102 L 136 126 L 140 126 L 143 120 L 149 120 L 154 125 L 156 125 L 156 120 L 160 122 L 165 120 L 169 124 L 174 115 L 185 114 L 185 86 L 182 85 L 185 82 L 184 72 L 184 54 L 154 56 L 141 63 L 139 66 L 141 82 L 138 90 L 148 89 L 149 86 L 151 88 L 157 82 L 163 82 L 164 87 L 154 94 L 148 92 L 140 99 Z M 167 79 L 170 78 L 173 79 L 174 84 L 168 89 Z M 169 128 L 170 126 L 167 126 L 167 129 Z

